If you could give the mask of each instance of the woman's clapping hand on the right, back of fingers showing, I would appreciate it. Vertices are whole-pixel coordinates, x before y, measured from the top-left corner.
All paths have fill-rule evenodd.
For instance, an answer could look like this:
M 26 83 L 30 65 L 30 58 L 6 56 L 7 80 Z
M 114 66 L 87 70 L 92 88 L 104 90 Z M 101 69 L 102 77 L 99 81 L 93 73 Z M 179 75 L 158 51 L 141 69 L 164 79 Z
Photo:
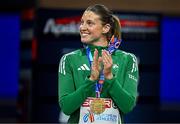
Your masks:
M 113 74 L 112 74 L 113 61 L 112 61 L 111 55 L 106 50 L 102 50 L 102 62 L 104 65 L 103 73 L 104 73 L 105 79 L 112 79 L 113 78 Z

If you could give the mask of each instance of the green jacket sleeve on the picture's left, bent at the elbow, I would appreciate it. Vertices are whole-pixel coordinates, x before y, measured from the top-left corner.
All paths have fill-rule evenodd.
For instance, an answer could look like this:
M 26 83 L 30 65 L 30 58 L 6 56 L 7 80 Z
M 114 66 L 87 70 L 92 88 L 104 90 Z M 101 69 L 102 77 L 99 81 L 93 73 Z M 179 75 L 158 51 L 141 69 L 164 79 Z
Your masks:
M 75 82 L 73 80 L 73 72 L 68 56 L 64 55 L 61 58 L 58 72 L 58 101 L 60 108 L 66 115 L 75 112 L 88 96 L 93 93 L 93 81 L 88 78 L 82 86 L 75 89 Z

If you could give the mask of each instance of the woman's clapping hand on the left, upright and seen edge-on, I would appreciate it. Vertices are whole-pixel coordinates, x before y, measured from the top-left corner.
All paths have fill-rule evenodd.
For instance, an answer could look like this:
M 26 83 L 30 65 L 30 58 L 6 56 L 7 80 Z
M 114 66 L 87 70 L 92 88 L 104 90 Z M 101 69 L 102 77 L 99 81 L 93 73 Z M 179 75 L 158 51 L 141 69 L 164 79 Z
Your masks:
M 101 66 L 100 66 L 101 62 L 102 62 L 102 58 L 101 57 L 98 58 L 98 50 L 95 49 L 93 62 L 91 65 L 91 75 L 89 78 L 90 80 L 95 81 L 99 79 L 100 70 L 101 70 Z

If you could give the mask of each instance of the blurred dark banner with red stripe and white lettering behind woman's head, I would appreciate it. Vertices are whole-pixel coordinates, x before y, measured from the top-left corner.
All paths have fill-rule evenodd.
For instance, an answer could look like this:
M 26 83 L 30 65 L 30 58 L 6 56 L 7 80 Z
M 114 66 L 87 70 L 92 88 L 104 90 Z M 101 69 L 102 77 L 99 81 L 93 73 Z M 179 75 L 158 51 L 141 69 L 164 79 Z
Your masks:
M 37 35 L 45 39 L 78 36 L 82 14 L 83 10 L 40 9 L 37 15 Z M 124 34 L 159 33 L 159 16 L 156 14 L 116 12 L 115 15 L 120 19 Z

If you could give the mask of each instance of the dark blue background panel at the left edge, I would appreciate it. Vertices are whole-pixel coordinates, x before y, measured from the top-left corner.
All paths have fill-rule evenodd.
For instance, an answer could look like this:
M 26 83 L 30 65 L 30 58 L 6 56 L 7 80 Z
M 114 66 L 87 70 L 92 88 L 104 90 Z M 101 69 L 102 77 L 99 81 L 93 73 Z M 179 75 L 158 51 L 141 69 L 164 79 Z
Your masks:
M 0 98 L 16 98 L 19 85 L 20 17 L 0 13 Z

